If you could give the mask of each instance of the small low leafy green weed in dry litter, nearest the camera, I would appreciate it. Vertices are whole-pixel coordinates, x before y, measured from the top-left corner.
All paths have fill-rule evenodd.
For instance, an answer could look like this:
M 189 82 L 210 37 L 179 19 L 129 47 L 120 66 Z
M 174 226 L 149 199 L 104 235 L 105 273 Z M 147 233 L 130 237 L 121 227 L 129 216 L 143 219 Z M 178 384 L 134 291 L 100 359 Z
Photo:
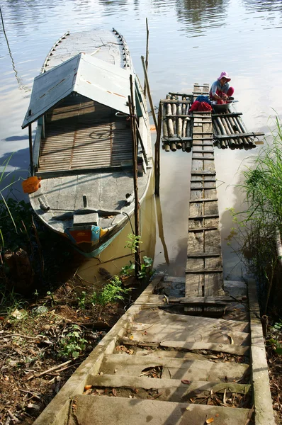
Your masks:
M 86 347 L 84 333 L 77 324 L 73 324 L 69 333 L 60 341 L 60 356 L 77 358 Z

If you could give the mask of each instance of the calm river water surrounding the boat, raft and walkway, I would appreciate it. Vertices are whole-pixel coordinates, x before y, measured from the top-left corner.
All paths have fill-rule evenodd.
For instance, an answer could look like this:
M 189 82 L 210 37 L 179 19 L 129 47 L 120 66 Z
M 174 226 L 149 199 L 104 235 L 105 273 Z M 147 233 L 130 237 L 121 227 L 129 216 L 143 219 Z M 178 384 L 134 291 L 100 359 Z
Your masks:
M 33 78 L 67 30 L 116 28 L 127 40 L 142 79 L 140 57 L 145 55 L 148 18 L 155 106 L 169 91 L 191 93 L 194 82 L 211 84 L 227 71 L 248 130 L 269 133 L 269 117 L 281 116 L 281 0 L 2 0 L 1 11 L 6 38 L 0 24 L 0 164 L 14 152 L 7 169 L 13 176 L 27 175 L 28 130 L 21 130 L 21 123 Z M 252 163 L 259 147 L 247 152 L 215 150 L 224 274 L 235 279 L 241 268 L 225 240 L 232 227 L 226 209 L 242 208 L 236 187 L 239 169 Z M 154 257 L 154 267 L 170 276 L 185 272 L 190 155 L 162 151 L 160 197 L 154 198 L 152 188 L 141 210 L 141 249 Z M 18 186 L 14 193 L 21 198 Z M 101 260 L 128 254 L 124 246 L 130 232 L 128 225 Z M 109 261 L 105 268 L 118 273 L 127 261 Z M 94 282 L 97 263 L 81 264 L 80 276 Z

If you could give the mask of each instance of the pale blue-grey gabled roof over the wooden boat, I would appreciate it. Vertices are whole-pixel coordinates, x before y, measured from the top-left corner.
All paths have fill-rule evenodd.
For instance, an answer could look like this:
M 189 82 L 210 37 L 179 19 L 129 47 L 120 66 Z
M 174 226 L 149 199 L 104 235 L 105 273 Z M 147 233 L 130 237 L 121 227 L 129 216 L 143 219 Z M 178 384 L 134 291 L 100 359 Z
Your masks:
M 73 91 L 116 111 L 129 114 L 130 74 L 132 72 L 127 69 L 79 53 L 35 77 L 22 128 L 38 120 Z M 134 75 L 132 77 L 134 78 Z

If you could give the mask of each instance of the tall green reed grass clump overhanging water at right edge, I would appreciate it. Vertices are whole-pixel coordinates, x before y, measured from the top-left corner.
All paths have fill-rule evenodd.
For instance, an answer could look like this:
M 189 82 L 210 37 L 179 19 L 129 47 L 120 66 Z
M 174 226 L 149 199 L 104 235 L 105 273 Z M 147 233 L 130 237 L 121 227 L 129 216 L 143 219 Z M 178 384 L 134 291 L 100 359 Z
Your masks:
M 269 301 L 282 314 L 282 285 L 278 284 L 277 275 L 281 266 L 276 253 L 276 229 L 282 234 L 282 123 L 278 116 L 274 123 L 271 140 L 260 150 L 252 166 L 242 171 L 240 187 L 246 208 L 240 213 L 244 218 L 236 232 L 239 251 L 256 277 L 264 314 Z

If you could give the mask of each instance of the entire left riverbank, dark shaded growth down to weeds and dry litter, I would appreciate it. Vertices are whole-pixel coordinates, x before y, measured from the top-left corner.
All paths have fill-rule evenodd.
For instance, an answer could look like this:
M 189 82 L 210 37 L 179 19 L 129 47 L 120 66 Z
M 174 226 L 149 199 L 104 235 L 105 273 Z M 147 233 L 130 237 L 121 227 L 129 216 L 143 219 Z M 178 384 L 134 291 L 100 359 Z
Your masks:
M 37 220 L 29 203 L 13 192 L 4 197 L 3 176 L 0 423 L 28 425 L 150 280 L 152 259 L 143 256 L 135 280 L 134 251 L 141 241 L 128 235 L 125 261 L 131 261 L 114 276 L 101 263 L 96 283 L 87 282 L 77 271 L 84 259 Z

